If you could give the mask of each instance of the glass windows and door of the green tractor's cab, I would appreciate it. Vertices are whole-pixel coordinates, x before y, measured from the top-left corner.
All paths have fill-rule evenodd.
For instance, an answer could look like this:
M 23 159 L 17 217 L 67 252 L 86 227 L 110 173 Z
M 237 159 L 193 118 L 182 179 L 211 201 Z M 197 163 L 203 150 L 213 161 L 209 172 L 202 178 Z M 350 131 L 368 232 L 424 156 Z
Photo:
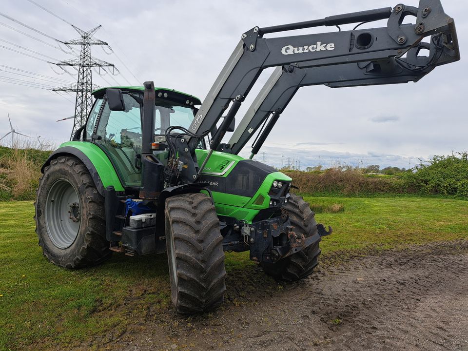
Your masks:
M 119 90 L 119 104 L 106 90 Z M 175 90 L 156 88 L 154 135 L 164 136 L 171 126 L 188 128 L 194 119 L 198 98 Z M 114 164 L 125 187 L 141 185 L 143 143 L 143 87 L 102 88 L 93 92 L 96 101 L 86 121 L 82 140 L 96 143 Z M 156 141 L 156 140 L 153 140 Z M 167 153 L 166 153 L 167 155 Z M 167 163 L 164 155 L 158 157 Z

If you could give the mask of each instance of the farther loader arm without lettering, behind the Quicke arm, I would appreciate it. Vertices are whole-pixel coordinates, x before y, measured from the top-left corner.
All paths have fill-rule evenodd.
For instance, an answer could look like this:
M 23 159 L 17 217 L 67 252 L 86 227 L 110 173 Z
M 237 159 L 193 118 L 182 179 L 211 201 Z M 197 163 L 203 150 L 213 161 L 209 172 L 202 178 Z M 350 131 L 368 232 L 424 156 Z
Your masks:
M 417 82 L 436 66 L 457 59 L 453 49 L 438 43 L 441 39 L 438 36 L 432 36 L 430 43 L 420 42 L 411 48 L 406 58 L 392 57 L 379 61 L 308 68 L 292 65 L 277 67 L 224 147 L 225 151 L 238 154 L 263 124 L 252 145 L 251 158 L 256 155 L 274 123 L 300 87 L 324 84 L 338 88 Z M 418 56 L 422 49 L 427 49 L 429 56 Z M 267 123 L 269 117 L 271 118 Z

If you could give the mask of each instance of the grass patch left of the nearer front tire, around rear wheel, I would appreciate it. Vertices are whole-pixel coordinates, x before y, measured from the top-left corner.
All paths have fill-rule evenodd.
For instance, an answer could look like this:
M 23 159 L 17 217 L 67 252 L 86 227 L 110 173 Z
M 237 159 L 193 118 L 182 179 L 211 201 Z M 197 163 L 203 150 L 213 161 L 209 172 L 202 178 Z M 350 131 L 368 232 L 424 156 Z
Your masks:
M 33 215 L 31 201 L 0 203 L 0 350 L 66 349 L 169 304 L 164 255 L 114 255 L 98 267 L 65 270 L 42 256 Z

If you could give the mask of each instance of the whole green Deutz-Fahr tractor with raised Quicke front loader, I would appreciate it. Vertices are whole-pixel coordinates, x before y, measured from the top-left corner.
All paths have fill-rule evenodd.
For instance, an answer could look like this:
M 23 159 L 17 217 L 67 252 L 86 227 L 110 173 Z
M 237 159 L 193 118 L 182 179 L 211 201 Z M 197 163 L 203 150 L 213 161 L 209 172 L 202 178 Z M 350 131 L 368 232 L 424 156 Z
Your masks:
M 403 24 L 406 17 L 414 24 Z M 339 27 L 376 20 L 387 26 Z M 317 26 L 339 31 L 264 38 Z M 242 34 L 203 103 L 151 81 L 98 89 L 86 123 L 42 168 L 39 245 L 66 268 L 96 265 L 113 252 L 167 252 L 172 301 L 188 314 L 222 303 L 225 251 L 250 251 L 276 279 L 304 278 L 331 228 L 317 224 L 309 204 L 291 194 L 289 176 L 252 160 L 293 95 L 307 85 L 416 82 L 458 59 L 453 19 L 439 0 L 421 0 L 419 7 L 254 27 Z M 276 67 L 273 75 L 235 125 L 268 67 Z M 227 132 L 234 133 L 221 143 Z M 250 159 L 238 156 L 254 135 Z

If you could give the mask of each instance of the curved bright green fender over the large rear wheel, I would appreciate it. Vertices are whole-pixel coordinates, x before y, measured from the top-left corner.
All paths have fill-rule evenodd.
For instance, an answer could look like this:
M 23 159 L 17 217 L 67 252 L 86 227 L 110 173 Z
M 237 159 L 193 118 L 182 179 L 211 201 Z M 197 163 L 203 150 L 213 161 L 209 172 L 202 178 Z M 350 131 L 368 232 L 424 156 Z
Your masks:
M 124 191 L 109 157 L 97 145 L 88 141 L 69 141 L 61 144 L 45 161 L 40 171 L 44 173 L 44 168 L 51 160 L 70 155 L 78 157 L 88 168 L 100 195 L 104 196 L 104 189 L 108 186 L 113 186 L 116 191 Z

